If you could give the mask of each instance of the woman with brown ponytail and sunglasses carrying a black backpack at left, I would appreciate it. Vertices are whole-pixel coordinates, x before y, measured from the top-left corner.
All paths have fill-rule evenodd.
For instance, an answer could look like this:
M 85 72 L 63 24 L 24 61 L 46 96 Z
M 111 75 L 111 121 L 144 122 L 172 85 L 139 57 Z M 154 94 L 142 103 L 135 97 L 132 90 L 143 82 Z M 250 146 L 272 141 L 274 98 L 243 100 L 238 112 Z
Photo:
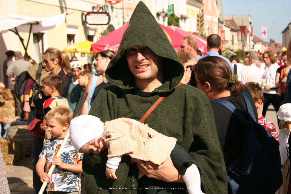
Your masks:
M 48 76 L 49 74 L 58 74 L 62 79 L 62 86 L 59 89 L 59 94 L 62 97 L 66 97 L 69 90 L 70 79 L 66 75 L 66 72 L 70 72 L 70 57 L 67 51 L 60 51 L 56 48 L 48 48 L 44 53 L 41 54 L 40 58 L 42 59 L 42 70 L 41 76 L 37 77 L 37 72 L 41 68 L 39 64 L 34 64 L 27 72 L 29 74 L 29 79 L 24 87 L 24 106 L 23 110 L 26 113 L 29 113 L 28 124 L 34 118 L 42 120 L 43 112 L 42 107 L 43 103 L 49 97 L 46 97 L 41 88 L 42 88 L 42 79 Z M 33 96 L 33 102 L 30 100 L 31 89 L 33 89 L 34 84 L 36 83 L 36 91 Z M 30 104 L 31 103 L 31 104 Z M 33 165 L 33 191 L 38 193 L 42 182 L 40 181 L 39 176 L 36 173 L 35 167 L 38 161 L 38 156 L 42 150 L 44 137 L 33 136 L 33 147 L 32 147 L 32 165 Z

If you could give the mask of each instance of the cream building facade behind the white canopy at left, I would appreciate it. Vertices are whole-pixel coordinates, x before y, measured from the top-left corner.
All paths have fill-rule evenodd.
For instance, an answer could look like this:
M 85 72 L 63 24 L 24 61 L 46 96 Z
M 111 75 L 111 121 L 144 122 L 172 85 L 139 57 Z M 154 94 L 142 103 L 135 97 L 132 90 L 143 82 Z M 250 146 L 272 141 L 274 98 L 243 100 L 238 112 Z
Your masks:
M 63 50 L 64 47 L 86 40 L 97 41 L 101 38 L 108 25 L 90 25 L 85 22 L 87 12 L 96 11 L 95 6 L 99 5 L 101 10 L 108 12 L 111 16 L 110 24 L 115 28 L 123 25 L 122 3 L 109 4 L 102 0 L 9 0 L 1 1 L 0 15 L 17 14 L 29 17 L 50 17 L 67 13 L 65 22 L 55 28 L 39 33 L 31 33 L 28 43 L 27 53 L 38 63 L 40 53 L 49 47 Z M 29 33 L 19 33 L 24 39 L 24 44 L 28 40 Z M 21 51 L 24 48 L 17 35 L 10 31 L 0 32 L 0 64 L 2 70 L 3 61 L 6 59 L 7 50 Z M 84 64 L 90 62 L 91 55 L 81 53 L 69 53 L 70 57 L 76 56 Z M 1 80 L 3 73 L 1 72 Z

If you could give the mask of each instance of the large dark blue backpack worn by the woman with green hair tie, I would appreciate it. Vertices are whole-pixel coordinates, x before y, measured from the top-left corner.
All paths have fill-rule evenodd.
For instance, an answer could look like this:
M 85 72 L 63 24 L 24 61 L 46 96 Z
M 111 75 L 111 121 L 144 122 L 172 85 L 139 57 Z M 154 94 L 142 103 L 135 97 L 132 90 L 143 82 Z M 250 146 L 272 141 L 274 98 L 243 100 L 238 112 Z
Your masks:
M 244 92 L 241 95 L 249 119 L 227 100 L 212 100 L 228 108 L 245 125 L 242 155 L 226 166 L 228 184 L 232 193 L 275 193 L 283 184 L 279 143 L 256 122 L 249 98 Z

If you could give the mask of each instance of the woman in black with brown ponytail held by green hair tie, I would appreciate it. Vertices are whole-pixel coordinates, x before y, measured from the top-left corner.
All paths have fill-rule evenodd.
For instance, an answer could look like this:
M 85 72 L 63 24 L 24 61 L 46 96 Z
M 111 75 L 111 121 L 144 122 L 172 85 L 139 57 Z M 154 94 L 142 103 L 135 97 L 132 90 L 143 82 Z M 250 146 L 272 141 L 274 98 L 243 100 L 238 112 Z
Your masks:
M 251 93 L 242 82 L 237 80 L 237 75 L 232 74 L 229 65 L 222 58 L 207 56 L 198 60 L 194 66 L 194 74 L 197 88 L 202 90 L 209 100 L 224 99 L 233 104 L 237 108 L 236 110 L 249 120 L 248 107 L 242 96 L 244 93 L 246 99 L 251 102 L 253 113 L 257 112 Z M 225 165 L 228 167 L 244 153 L 246 126 L 226 106 L 217 102 L 210 102 L 210 104 L 222 155 Z M 258 114 L 254 115 L 256 122 L 258 122 Z M 274 163 L 274 165 L 276 164 Z M 228 193 L 233 193 L 230 184 L 228 185 Z

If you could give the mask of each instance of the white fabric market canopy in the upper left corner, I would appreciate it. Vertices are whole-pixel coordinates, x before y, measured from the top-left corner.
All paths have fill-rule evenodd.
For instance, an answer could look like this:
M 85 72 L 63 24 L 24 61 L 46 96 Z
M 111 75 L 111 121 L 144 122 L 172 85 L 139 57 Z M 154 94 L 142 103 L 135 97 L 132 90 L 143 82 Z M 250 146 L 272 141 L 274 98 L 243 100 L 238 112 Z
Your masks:
M 0 31 L 5 32 L 9 30 L 14 32 L 19 37 L 26 52 L 31 33 L 53 29 L 65 21 L 65 16 L 66 13 L 52 17 L 28 17 L 16 14 L 4 15 L 0 16 Z M 29 32 L 26 47 L 19 32 Z

